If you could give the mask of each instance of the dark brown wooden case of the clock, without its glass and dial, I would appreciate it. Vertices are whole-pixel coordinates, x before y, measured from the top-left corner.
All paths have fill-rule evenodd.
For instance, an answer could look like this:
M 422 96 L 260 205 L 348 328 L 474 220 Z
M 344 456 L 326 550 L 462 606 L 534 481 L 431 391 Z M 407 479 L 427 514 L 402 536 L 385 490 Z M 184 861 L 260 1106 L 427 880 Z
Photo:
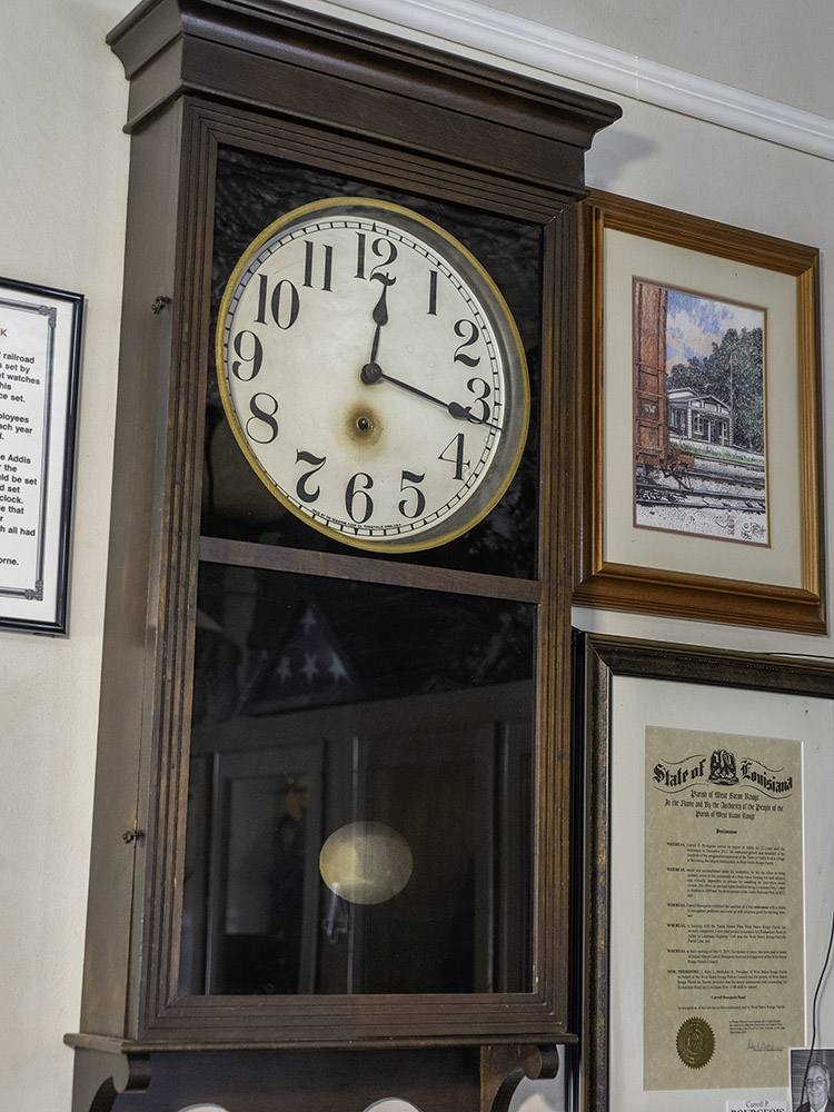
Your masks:
M 504 1066 L 490 1065 L 486 1082 L 484 1061 L 522 1053 L 512 1044 L 570 1042 L 578 1026 L 569 983 L 580 932 L 568 920 L 580 877 L 575 868 L 572 874 L 576 804 L 565 773 L 574 209 L 586 192 L 584 152 L 619 109 L 278 0 L 146 0 L 108 41 L 130 80 L 131 170 L 82 1033 L 68 1036 L 77 1048 L 79 1079 L 86 1079 L 79 1080 L 85 1095 L 75 1112 L 106 1109 L 101 1102 L 110 1092 L 112 1100 L 133 1100 L 129 1093 L 146 1084 L 149 1061 L 155 1075 L 177 1069 L 183 1076 L 199 1074 L 199 1063 L 208 1069 L 228 1061 L 220 1055 L 232 1046 L 241 1063 L 245 1056 L 250 1062 L 247 1069 L 285 1063 L 276 1065 L 278 1074 L 291 1062 L 309 1063 L 315 1072 L 329 1069 L 326 1061 L 379 1055 L 385 1078 L 386 1063 L 395 1061 L 389 1054 L 403 1055 L 404 1063 L 428 1055 L 426 1061 L 446 1063 L 448 1076 L 459 1070 L 467 1084 L 480 1079 L 478 1086 L 488 1089 Z M 196 569 L 206 544 L 199 537 L 199 488 L 210 345 L 207 229 L 219 143 L 543 229 L 547 436 L 540 449 L 538 575 L 499 587 L 483 577 L 485 593 L 517 592 L 540 612 L 530 993 L 178 997 L 188 681 Z M 309 554 L 285 550 L 279 558 L 285 569 L 309 570 Z M 416 585 L 426 585 L 426 569 L 410 573 L 399 564 L 393 572 L 395 580 L 410 574 Z M 431 586 L 473 590 L 474 580 L 459 575 L 435 572 Z M 286 1049 L 294 1045 L 327 1048 L 327 1054 L 314 1062 Z M 371 1049 L 383 1045 L 400 1049 Z M 267 1050 L 278 1046 L 285 1048 L 280 1054 Z M 344 1059 L 339 1046 L 367 1049 Z M 193 1050 L 201 1053 L 189 1056 Z M 464 1061 L 465 1070 L 450 1064 Z M 415 1065 L 416 1073 L 421 1069 Z M 310 1108 L 320 1106 L 322 1088 Z M 336 1106 L 329 1098 L 328 1106 Z M 356 1102 L 344 1106 L 353 1110 Z M 458 1099 L 455 1106 L 478 1104 Z

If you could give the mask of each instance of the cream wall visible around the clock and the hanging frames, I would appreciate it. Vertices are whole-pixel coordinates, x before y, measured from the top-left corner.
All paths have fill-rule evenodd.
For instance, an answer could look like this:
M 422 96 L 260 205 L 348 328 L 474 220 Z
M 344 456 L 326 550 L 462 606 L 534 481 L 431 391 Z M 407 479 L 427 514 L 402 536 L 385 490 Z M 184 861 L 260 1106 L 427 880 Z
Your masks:
M 830 0 L 791 6 L 790 53 L 782 39 L 785 6 L 777 0 L 729 6 L 736 8 L 734 20 L 739 11 L 757 18 L 753 58 L 728 50 L 723 37 L 728 6 L 718 0 L 697 10 L 675 6 L 674 24 L 669 6 L 659 0 L 487 2 L 834 116 L 827 50 L 817 44 L 828 27 Z M 325 0 L 306 3 L 342 11 Z M 28 0 L 4 4 L 0 14 L 0 150 L 6 158 L 0 274 L 80 290 L 88 299 L 70 636 L 0 634 L 6 707 L 0 746 L 0 1104 L 14 1112 L 68 1112 L 72 1055 L 61 1039 L 77 1027 L 80 1006 L 128 160 L 121 133 L 127 85 L 103 40 L 131 7 L 131 0 Z M 834 163 L 613 99 L 623 105 L 624 118 L 590 152 L 592 185 L 817 245 L 825 291 L 826 260 L 834 255 Z M 830 294 L 823 308 L 824 336 L 833 335 Z M 831 378 L 831 358 L 826 369 Z M 827 425 L 834 428 L 834 391 L 828 393 Z M 831 460 L 826 483 L 834 489 Z M 834 656 L 830 637 L 593 610 L 577 610 L 575 622 L 586 629 L 663 641 Z M 822 1036 L 831 1044 L 830 1017 L 827 1011 Z M 560 1105 L 557 1086 L 545 1086 L 525 1101 L 525 1112 Z M 682 1101 L 672 1112 L 684 1106 Z

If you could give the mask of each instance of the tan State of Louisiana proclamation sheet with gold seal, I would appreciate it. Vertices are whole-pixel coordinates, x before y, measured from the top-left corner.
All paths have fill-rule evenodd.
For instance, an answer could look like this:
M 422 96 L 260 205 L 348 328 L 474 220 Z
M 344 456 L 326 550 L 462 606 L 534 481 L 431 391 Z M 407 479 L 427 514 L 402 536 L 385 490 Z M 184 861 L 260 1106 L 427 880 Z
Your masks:
M 644 1090 L 784 1084 L 804 1044 L 802 746 L 646 728 Z

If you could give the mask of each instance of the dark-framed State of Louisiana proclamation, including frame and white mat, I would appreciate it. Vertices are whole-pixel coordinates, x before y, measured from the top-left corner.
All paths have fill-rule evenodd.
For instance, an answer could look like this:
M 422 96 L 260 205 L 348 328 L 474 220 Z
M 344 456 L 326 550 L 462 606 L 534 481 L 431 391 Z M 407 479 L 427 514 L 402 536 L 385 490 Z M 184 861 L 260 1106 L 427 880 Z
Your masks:
M 598 635 L 584 663 L 576 1106 L 793 1106 L 791 1049 L 834 1021 L 815 993 L 832 933 L 818 877 L 834 666 Z

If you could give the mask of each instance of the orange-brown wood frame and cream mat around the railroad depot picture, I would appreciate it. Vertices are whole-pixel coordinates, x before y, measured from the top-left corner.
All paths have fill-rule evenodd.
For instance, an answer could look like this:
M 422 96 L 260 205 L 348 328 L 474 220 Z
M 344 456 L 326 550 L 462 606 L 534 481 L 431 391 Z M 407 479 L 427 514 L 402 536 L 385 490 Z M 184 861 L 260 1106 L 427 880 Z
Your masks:
M 598 191 L 580 208 L 583 361 L 577 388 L 574 602 L 824 633 L 817 250 Z M 633 318 L 637 301 L 632 282 L 638 279 L 644 280 L 641 286 L 648 281 L 659 289 L 664 298 L 671 289 L 702 302 L 714 301 L 722 309 L 735 302 L 758 307 L 765 322 L 766 445 L 759 493 L 765 495 L 761 506 L 770 514 L 767 529 L 755 526 L 763 538 L 759 544 L 739 543 L 736 519 L 743 503 L 729 498 L 726 487 L 713 498 L 717 505 L 704 509 L 701 499 L 694 512 L 702 522 L 707 515 L 722 516 L 727 530 L 722 537 L 692 536 L 688 525 L 646 528 L 637 520 L 637 484 L 647 471 L 655 476 L 651 497 L 664 504 L 695 502 L 687 487 L 718 486 L 693 477 L 697 456 L 694 468 L 688 456 L 693 475 L 686 461 L 682 474 L 671 456 L 658 460 L 656 450 L 647 465 L 649 434 L 641 430 L 638 441 L 631 423 L 617 423 L 616 415 L 633 406 L 636 420 L 637 390 L 645 384 L 637 378 L 633 383 L 632 376 L 644 359 L 651 361 L 645 322 L 638 326 Z M 654 348 L 655 366 L 668 371 L 665 304 L 663 337 L 655 339 Z M 646 350 L 634 339 L 641 335 Z M 731 369 L 731 397 L 732 374 Z M 656 375 L 662 381 L 663 371 Z M 665 437 L 668 453 L 677 450 L 669 448 L 675 443 L 692 451 L 692 440 L 668 436 L 666 394 L 667 388 L 659 389 L 648 404 L 639 395 L 641 406 L 655 415 L 661 407 L 655 435 Z M 757 520 L 764 520 L 763 515 Z M 716 565 L 721 575 L 715 574 Z

